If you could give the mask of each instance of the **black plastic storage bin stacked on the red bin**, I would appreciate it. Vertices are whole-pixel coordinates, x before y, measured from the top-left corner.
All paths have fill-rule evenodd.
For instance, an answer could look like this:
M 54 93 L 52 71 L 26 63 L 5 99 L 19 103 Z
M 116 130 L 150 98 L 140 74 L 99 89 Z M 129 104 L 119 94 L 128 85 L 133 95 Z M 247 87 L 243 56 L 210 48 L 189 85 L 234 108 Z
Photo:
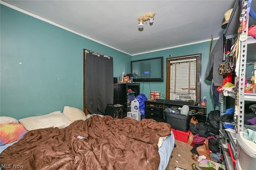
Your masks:
M 172 128 L 176 130 L 181 130 L 183 132 L 187 132 L 189 130 L 189 123 L 192 115 L 181 115 L 172 113 L 173 109 L 165 109 L 164 113 L 166 116 L 166 123 L 170 124 Z

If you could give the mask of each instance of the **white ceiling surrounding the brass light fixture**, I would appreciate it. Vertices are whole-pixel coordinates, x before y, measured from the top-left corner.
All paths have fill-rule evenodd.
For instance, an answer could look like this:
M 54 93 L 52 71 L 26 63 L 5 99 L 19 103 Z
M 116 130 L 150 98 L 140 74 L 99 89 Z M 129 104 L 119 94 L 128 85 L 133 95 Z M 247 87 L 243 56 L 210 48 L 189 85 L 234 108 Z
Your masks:
M 130 55 L 220 37 L 224 13 L 235 0 L 4 0 Z M 11 5 L 10 5 L 11 4 Z M 22 11 L 21 10 L 21 11 Z M 138 18 L 154 12 L 154 23 L 138 29 Z

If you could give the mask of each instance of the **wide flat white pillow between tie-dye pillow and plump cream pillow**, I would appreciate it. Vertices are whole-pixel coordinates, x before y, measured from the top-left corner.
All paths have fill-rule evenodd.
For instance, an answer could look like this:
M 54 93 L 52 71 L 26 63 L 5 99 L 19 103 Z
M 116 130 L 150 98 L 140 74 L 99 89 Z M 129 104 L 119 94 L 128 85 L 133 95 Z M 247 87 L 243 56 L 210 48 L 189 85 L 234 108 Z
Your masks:
M 61 114 L 60 111 L 55 111 L 41 116 L 27 117 L 20 119 L 19 121 L 26 130 L 50 127 L 64 128 L 72 123 L 65 115 Z

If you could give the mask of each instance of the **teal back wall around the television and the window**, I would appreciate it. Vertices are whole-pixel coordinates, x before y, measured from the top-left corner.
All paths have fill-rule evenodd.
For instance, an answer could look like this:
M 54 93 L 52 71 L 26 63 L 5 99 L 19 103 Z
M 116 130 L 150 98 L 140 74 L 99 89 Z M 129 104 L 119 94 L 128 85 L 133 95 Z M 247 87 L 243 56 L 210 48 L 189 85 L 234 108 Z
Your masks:
M 214 40 L 212 48 L 214 47 L 216 42 L 217 40 Z M 211 93 L 212 82 L 205 79 L 205 73 L 206 73 L 206 69 L 209 61 L 209 52 L 210 52 L 210 41 L 132 56 L 132 60 L 153 58 L 153 57 L 160 57 L 160 56 L 164 57 L 164 82 L 141 83 L 140 84 L 141 93 L 144 93 L 148 98 L 150 98 L 150 90 L 159 90 L 161 93 L 160 99 L 165 99 L 166 97 L 166 58 L 201 53 L 202 54 L 201 98 L 206 96 L 207 113 L 214 110 L 214 100 Z M 217 110 L 220 109 L 220 104 L 216 105 L 215 109 Z

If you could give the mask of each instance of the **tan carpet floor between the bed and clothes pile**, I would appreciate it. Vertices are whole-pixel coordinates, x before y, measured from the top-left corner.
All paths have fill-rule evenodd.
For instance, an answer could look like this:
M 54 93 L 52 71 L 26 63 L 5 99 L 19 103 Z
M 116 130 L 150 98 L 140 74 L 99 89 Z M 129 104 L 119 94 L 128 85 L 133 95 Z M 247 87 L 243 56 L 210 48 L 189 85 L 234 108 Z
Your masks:
M 193 148 L 190 144 L 175 140 L 176 147 L 172 151 L 172 156 L 169 160 L 169 165 L 166 170 L 175 170 L 175 167 L 183 168 L 184 170 L 192 170 L 192 164 L 199 165 L 198 161 L 192 159 Z

